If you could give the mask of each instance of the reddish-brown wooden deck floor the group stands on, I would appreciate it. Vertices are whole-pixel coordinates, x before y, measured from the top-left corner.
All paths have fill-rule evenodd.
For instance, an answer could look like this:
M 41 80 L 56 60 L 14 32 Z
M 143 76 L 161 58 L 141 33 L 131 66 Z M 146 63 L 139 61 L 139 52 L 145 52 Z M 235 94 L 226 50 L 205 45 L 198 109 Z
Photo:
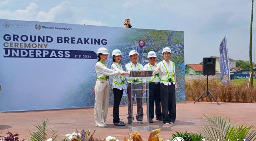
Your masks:
M 127 122 L 127 106 L 120 107 L 120 119 Z M 136 110 L 136 107 L 134 107 Z M 65 137 L 78 129 L 96 130 L 94 137 L 105 138 L 107 136 L 116 137 L 122 141 L 124 137 L 129 138 L 128 126 L 114 126 L 112 121 L 113 107 L 109 107 L 107 123 L 105 128 L 95 127 L 93 108 L 30 111 L 30 112 L 5 112 L 0 113 L 0 133 L 4 135 L 7 131 L 20 134 L 20 139 L 29 140 L 29 131 L 35 130 L 35 126 L 42 120 L 49 118 L 49 127 L 58 132 L 58 139 Z M 144 105 L 146 111 L 146 105 Z M 146 112 L 144 112 L 146 113 Z M 256 125 L 256 103 L 216 103 L 209 102 L 183 102 L 177 103 L 177 120 L 174 125 L 165 125 L 155 119 L 150 123 L 153 129 L 161 128 L 160 137 L 168 140 L 174 131 L 195 132 L 198 127 L 207 123 L 202 119 L 203 114 L 224 115 L 231 119 L 236 125 Z M 146 115 L 144 115 L 146 121 Z M 146 123 L 144 123 L 146 125 Z M 149 136 L 149 131 L 139 131 L 144 141 Z

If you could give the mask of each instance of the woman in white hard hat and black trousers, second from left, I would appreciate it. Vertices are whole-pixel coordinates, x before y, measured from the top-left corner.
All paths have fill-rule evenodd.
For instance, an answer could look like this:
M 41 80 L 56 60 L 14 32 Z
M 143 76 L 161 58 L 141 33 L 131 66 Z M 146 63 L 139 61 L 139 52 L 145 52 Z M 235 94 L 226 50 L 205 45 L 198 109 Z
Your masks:
M 115 49 L 112 52 L 113 56 L 113 64 L 111 65 L 111 69 L 118 71 L 120 73 L 124 73 L 124 70 L 121 65 L 122 52 L 118 49 Z M 122 75 L 115 75 L 113 78 L 112 90 L 114 94 L 114 107 L 113 107 L 113 123 L 114 125 L 125 126 L 125 123 L 120 121 L 119 118 L 119 105 L 122 99 L 122 94 L 124 92 L 125 87 L 125 78 Z

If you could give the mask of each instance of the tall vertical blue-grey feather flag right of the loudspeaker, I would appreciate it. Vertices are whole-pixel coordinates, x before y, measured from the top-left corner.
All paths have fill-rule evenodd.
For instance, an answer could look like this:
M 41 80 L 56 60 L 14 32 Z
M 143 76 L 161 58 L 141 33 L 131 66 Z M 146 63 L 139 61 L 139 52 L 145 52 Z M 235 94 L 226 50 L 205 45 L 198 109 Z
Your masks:
M 220 74 L 223 84 L 230 84 L 230 66 L 226 36 L 220 43 Z

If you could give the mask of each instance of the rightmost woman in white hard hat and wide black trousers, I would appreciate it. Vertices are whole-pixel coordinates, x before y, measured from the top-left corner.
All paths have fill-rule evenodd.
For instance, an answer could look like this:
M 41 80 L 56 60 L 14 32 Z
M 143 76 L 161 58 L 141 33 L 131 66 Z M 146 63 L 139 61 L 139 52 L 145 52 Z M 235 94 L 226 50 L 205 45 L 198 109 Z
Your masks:
M 173 124 L 176 120 L 176 99 L 175 89 L 178 88 L 175 74 L 175 65 L 171 60 L 171 49 L 166 47 L 162 51 L 164 60 L 158 63 L 153 75 L 159 71 L 160 81 L 160 101 L 162 115 L 165 124 Z

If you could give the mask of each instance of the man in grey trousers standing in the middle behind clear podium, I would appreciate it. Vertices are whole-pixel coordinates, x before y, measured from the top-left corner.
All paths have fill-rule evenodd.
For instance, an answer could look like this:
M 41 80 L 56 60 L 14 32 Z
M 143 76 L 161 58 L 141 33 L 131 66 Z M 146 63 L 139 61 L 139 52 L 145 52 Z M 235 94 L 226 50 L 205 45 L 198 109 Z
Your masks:
M 142 64 L 138 63 L 138 56 L 139 53 L 135 50 L 132 50 L 129 52 L 129 58 L 131 60 L 130 63 L 125 64 L 126 71 L 139 71 L 143 70 Z M 127 95 L 128 95 L 128 124 L 131 124 L 134 120 L 134 117 L 132 116 L 132 101 L 134 101 L 134 98 L 132 99 L 131 96 L 131 83 L 132 83 L 132 91 L 133 97 L 136 94 L 136 101 L 137 101 L 137 114 L 136 119 L 139 123 L 143 123 L 143 107 L 142 107 L 142 94 L 145 92 L 145 79 L 141 79 L 139 77 L 132 77 L 128 79 L 128 86 L 127 86 Z M 138 90 L 135 90 L 138 89 Z

